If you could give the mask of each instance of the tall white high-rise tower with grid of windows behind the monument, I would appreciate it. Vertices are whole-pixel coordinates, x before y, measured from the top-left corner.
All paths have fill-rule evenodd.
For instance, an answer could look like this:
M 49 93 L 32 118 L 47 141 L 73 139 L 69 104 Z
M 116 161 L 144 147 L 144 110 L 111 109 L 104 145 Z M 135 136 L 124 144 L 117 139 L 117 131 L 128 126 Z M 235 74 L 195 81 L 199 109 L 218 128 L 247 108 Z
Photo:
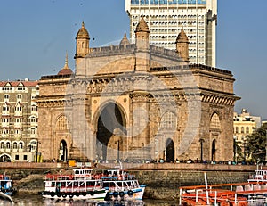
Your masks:
M 215 67 L 217 0 L 125 0 L 130 17 L 130 38 L 144 17 L 150 44 L 175 49 L 181 29 L 189 37 L 190 63 Z

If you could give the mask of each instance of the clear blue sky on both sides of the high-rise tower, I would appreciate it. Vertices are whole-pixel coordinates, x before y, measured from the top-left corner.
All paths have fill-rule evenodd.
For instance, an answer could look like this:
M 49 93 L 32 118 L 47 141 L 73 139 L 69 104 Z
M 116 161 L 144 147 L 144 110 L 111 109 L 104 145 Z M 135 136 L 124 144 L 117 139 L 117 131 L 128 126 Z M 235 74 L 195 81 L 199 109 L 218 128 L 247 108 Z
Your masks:
M 231 70 L 241 108 L 267 118 L 266 0 L 218 0 L 217 67 Z M 0 2 L 0 80 L 56 74 L 66 52 L 74 70 L 75 37 L 82 21 L 91 46 L 117 42 L 129 18 L 124 0 L 8 0 Z

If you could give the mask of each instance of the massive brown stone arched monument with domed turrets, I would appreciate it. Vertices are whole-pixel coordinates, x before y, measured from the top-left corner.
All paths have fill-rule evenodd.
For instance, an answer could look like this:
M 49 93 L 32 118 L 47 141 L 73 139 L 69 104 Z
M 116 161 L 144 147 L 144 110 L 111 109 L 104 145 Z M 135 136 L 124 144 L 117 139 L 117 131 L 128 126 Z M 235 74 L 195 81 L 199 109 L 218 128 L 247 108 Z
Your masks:
M 231 71 L 190 64 L 189 40 L 150 45 L 141 19 L 135 43 L 90 47 L 83 22 L 76 68 L 39 80 L 38 152 L 43 160 L 228 161 L 233 157 Z

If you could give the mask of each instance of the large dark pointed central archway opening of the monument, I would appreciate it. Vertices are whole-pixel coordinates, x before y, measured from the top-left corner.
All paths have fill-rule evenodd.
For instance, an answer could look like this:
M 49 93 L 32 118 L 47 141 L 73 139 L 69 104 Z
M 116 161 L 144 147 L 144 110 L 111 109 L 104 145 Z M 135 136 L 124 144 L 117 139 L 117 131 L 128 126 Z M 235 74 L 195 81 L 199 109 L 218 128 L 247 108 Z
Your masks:
M 101 161 L 122 158 L 124 148 L 125 114 L 117 103 L 107 103 L 97 119 L 96 158 Z

